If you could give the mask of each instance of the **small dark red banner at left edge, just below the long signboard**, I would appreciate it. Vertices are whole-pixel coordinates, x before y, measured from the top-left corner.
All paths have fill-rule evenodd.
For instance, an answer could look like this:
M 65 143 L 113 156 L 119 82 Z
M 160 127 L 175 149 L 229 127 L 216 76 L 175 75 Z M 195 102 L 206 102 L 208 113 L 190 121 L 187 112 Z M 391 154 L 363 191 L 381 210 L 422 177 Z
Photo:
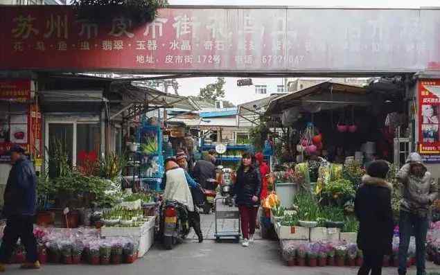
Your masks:
M 0 80 L 0 100 L 30 100 L 30 80 Z

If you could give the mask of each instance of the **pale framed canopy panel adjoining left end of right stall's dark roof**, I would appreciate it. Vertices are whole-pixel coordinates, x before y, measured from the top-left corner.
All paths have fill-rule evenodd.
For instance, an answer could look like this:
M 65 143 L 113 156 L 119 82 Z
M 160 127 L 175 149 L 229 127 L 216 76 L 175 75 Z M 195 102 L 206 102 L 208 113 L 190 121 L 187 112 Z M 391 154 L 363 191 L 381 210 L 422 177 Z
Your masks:
M 265 114 L 270 102 L 280 96 L 282 94 L 274 94 L 267 98 L 238 105 L 237 127 L 258 125 L 260 123 L 260 116 Z

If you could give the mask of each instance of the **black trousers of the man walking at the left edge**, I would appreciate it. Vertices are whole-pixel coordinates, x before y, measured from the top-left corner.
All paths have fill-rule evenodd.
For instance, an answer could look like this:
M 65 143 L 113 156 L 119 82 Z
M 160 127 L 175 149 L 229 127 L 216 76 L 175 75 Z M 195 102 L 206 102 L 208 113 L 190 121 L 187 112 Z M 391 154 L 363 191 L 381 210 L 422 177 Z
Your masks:
M 26 249 L 26 262 L 37 261 L 37 240 L 33 234 L 33 220 L 34 217 L 30 215 L 15 215 L 6 220 L 0 247 L 0 263 L 8 263 L 18 239 Z

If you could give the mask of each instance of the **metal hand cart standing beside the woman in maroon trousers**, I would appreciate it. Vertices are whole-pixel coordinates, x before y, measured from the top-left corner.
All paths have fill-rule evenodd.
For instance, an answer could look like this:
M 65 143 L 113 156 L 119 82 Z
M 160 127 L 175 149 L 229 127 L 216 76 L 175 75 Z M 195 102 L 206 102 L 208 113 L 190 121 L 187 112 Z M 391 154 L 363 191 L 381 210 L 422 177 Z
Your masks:
M 225 202 L 226 199 L 227 197 L 215 197 L 214 199 L 215 242 L 219 242 L 220 239 L 232 239 L 235 242 L 240 242 L 240 212 L 236 207 L 230 207 L 222 203 L 218 204 L 219 201 Z M 218 220 L 238 220 L 238 229 L 218 231 Z

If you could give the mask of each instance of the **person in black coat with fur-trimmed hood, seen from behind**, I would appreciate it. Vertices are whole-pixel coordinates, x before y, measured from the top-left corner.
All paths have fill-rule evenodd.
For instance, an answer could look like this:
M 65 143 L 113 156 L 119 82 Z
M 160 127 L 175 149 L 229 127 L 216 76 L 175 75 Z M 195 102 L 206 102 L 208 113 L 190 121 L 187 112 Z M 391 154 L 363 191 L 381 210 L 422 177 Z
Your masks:
M 383 256 L 392 253 L 392 186 L 385 181 L 388 170 L 387 161 L 371 162 L 356 193 L 355 214 L 360 222 L 358 247 L 364 253 L 358 275 L 367 275 L 370 270 L 371 275 L 382 274 Z

